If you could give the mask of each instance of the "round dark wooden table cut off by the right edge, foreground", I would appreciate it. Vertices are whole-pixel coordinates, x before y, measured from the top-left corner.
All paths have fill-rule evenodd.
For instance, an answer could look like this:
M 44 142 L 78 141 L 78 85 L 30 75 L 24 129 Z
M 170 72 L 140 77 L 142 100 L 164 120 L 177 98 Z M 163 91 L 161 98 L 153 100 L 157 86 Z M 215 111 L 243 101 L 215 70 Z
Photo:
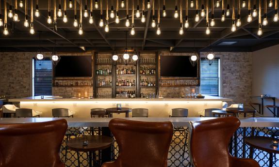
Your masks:
M 273 165 L 273 154 L 279 153 L 279 147 L 271 144 L 272 140 L 279 140 L 271 137 L 246 137 L 245 143 L 250 146 L 250 158 L 253 158 L 253 149 L 262 150 L 269 153 L 269 167 Z M 275 155 L 274 155 L 275 156 Z

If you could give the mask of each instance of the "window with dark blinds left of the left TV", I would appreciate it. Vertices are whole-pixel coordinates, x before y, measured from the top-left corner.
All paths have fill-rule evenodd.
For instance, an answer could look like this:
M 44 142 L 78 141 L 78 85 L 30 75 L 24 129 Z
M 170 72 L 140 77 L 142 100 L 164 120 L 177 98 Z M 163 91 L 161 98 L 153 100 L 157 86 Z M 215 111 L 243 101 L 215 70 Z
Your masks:
M 33 59 L 33 96 L 52 95 L 52 61 Z

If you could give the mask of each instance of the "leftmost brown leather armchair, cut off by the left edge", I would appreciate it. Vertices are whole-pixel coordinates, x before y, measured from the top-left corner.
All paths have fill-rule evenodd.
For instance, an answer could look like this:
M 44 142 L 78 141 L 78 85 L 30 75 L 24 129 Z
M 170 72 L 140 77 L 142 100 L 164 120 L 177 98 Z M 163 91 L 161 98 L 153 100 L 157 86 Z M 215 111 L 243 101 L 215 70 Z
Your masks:
M 60 146 L 66 120 L 0 124 L 0 167 L 65 167 Z

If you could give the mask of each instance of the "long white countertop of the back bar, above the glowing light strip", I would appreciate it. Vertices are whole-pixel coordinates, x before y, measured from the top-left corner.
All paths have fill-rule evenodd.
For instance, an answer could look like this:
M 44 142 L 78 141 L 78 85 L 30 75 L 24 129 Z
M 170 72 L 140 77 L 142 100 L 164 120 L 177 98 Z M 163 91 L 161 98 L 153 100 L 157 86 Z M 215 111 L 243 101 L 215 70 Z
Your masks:
M 59 96 L 44 96 L 44 99 L 41 99 L 41 96 L 32 96 L 32 97 L 23 97 L 23 98 L 17 98 L 17 99 L 9 99 L 9 102 L 44 102 L 44 101 L 224 101 L 224 102 L 230 102 L 232 99 L 224 98 L 224 97 L 216 97 L 216 96 L 208 96 L 205 95 L 205 98 L 203 99 L 195 99 L 195 98 L 152 98 L 152 99 L 146 99 L 146 98 L 62 98 Z

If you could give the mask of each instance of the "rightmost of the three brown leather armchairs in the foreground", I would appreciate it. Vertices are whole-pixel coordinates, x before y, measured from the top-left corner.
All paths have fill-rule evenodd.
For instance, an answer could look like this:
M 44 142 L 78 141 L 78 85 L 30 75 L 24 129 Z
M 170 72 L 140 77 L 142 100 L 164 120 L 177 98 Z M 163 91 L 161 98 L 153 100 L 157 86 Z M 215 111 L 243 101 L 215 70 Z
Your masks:
M 240 125 L 235 117 L 191 122 L 190 157 L 194 167 L 260 167 L 253 159 L 233 157 L 230 138 Z

